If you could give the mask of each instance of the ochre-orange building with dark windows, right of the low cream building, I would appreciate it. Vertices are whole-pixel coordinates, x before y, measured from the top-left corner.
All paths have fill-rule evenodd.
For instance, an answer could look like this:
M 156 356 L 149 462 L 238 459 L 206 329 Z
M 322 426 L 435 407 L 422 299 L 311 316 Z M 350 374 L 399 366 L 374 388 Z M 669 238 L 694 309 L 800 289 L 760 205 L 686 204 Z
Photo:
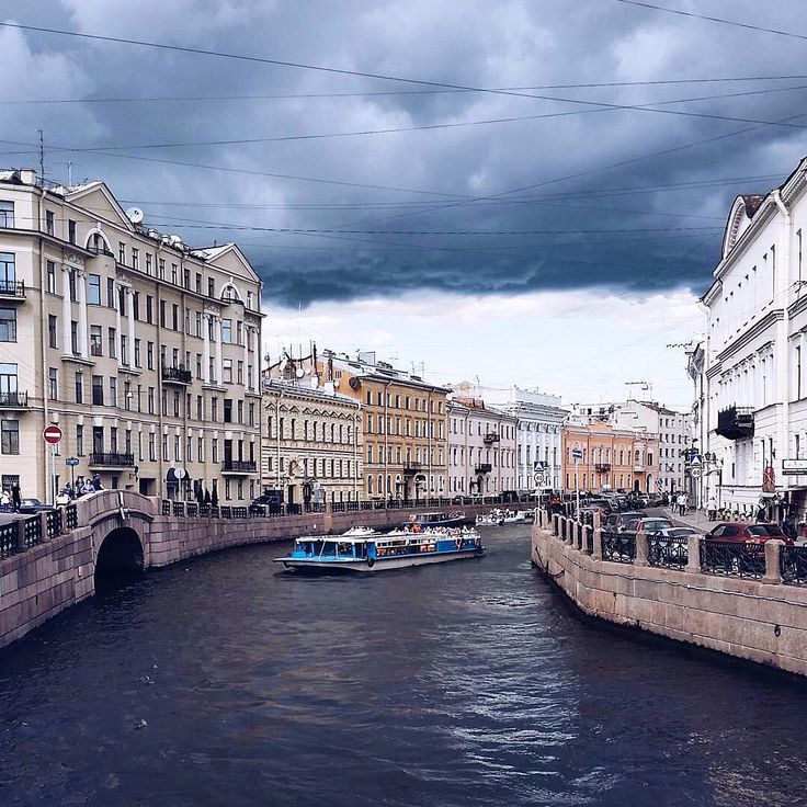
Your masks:
M 325 351 L 314 360 L 323 383 L 361 404 L 364 496 L 418 499 L 447 492 L 448 389 L 376 360 Z

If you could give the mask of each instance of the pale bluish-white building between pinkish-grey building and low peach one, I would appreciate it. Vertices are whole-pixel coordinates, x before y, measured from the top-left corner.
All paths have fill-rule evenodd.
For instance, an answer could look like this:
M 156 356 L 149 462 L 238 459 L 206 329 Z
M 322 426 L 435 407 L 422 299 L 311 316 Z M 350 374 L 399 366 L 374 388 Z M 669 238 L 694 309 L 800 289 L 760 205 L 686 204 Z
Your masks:
M 455 387 L 461 396 L 482 398 L 489 407 L 514 417 L 515 489 L 536 487 L 557 490 L 561 486 L 561 432 L 568 411 L 560 407 L 560 397 L 520 387 L 495 388 L 463 382 Z M 535 474 L 543 485 L 535 485 Z

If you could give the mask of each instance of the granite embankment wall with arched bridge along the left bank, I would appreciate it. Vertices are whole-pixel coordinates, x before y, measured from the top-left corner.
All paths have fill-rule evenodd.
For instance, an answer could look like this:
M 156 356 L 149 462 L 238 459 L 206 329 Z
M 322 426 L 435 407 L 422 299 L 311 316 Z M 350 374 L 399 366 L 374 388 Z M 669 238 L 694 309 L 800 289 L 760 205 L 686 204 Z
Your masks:
M 489 511 L 490 505 L 461 509 L 475 515 Z M 101 491 L 76 502 L 73 528 L 67 527 L 66 511 L 58 530 L 53 525 L 48 528 L 43 514 L 37 516 L 42 525 L 38 543 L 25 541 L 20 527 L 22 550 L 8 557 L 0 553 L 0 647 L 93 594 L 99 549 L 104 538 L 120 527 L 137 534 L 144 565 L 149 568 L 232 546 L 340 533 L 357 524 L 389 527 L 406 521 L 411 512 L 413 508 L 249 519 L 174 516 L 162 514 L 159 499 L 129 491 Z

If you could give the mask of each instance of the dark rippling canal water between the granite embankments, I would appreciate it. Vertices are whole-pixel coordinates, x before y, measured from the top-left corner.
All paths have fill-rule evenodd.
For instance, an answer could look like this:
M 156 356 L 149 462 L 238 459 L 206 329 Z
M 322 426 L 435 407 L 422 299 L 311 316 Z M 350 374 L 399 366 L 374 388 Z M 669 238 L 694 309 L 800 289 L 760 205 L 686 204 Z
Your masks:
M 807 685 L 580 618 L 528 562 L 148 573 L 0 650 L 0 804 L 807 804 Z

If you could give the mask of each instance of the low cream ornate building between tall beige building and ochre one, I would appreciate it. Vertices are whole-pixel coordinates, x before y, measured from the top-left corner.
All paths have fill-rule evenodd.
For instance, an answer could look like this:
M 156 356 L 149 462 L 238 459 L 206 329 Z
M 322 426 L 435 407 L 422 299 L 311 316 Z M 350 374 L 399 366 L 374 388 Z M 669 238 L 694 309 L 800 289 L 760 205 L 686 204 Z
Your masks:
M 271 371 L 270 371 L 271 372 Z M 359 402 L 316 375 L 263 380 L 261 477 L 285 504 L 359 501 L 362 433 Z

